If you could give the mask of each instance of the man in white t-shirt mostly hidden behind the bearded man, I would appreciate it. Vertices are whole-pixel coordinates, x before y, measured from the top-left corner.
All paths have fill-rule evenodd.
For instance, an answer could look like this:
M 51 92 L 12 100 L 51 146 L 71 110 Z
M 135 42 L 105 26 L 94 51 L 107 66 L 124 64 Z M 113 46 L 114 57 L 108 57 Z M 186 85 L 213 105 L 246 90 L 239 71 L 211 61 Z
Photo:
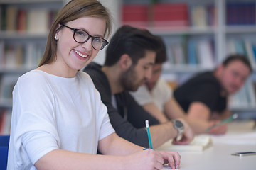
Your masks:
M 161 42 L 161 50 L 156 54 L 151 79 L 147 79 L 146 83 L 140 86 L 137 91 L 130 91 L 130 94 L 132 94 L 137 103 L 143 106 L 160 123 L 165 123 L 171 119 L 183 118 L 191 125 L 194 132 L 197 134 L 205 133 L 206 128 L 211 127 L 216 121 L 188 118 L 173 97 L 173 91 L 169 84 L 160 78 L 162 64 L 166 62 L 167 56 L 165 44 L 160 37 L 159 41 Z M 210 130 L 209 133 L 215 133 L 215 131 L 218 131 L 218 127 Z

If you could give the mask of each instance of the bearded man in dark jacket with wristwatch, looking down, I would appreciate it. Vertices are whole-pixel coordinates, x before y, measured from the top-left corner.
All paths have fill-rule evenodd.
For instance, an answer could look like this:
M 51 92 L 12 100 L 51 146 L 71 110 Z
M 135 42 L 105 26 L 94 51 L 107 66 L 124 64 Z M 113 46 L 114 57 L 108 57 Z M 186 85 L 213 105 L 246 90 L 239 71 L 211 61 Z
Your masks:
M 151 125 L 153 147 L 159 147 L 182 132 L 181 128 L 175 129 L 180 121 L 175 121 L 175 126 L 171 121 L 158 125 L 159 121 L 139 106 L 128 92 L 136 91 L 151 77 L 158 49 L 159 40 L 149 31 L 122 26 L 110 40 L 104 66 L 90 63 L 84 70 L 100 92 L 117 135 L 143 147 L 149 147 L 146 119 Z M 185 131 L 178 143 L 188 144 L 193 139 L 193 132 L 185 121 L 181 121 Z

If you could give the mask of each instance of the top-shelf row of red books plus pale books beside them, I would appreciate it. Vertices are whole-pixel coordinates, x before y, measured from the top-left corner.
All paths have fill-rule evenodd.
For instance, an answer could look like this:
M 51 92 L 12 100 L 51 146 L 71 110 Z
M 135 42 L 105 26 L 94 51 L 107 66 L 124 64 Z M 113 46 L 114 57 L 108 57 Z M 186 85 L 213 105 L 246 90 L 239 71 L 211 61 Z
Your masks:
M 172 4 L 124 4 L 122 23 L 137 27 L 202 26 L 215 24 L 214 6 L 192 6 L 186 3 Z M 191 22 L 190 22 L 191 16 Z

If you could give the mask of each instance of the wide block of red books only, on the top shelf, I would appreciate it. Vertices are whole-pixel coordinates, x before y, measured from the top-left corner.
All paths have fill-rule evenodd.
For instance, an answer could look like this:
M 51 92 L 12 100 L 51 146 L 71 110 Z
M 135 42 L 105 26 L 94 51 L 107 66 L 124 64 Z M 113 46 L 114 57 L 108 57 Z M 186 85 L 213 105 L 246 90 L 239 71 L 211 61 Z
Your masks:
M 188 5 L 186 3 L 124 4 L 122 24 L 143 28 L 188 26 Z

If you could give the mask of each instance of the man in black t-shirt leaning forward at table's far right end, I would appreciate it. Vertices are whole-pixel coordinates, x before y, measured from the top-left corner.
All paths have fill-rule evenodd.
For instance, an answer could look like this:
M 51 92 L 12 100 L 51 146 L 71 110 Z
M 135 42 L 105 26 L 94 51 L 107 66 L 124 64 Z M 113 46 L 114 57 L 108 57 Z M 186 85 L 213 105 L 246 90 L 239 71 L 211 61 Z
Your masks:
M 211 72 L 197 74 L 174 91 L 174 98 L 188 114 L 198 120 L 222 120 L 230 116 L 228 96 L 245 84 L 252 67 L 244 55 L 230 55 Z M 215 133 L 225 133 L 223 124 Z

